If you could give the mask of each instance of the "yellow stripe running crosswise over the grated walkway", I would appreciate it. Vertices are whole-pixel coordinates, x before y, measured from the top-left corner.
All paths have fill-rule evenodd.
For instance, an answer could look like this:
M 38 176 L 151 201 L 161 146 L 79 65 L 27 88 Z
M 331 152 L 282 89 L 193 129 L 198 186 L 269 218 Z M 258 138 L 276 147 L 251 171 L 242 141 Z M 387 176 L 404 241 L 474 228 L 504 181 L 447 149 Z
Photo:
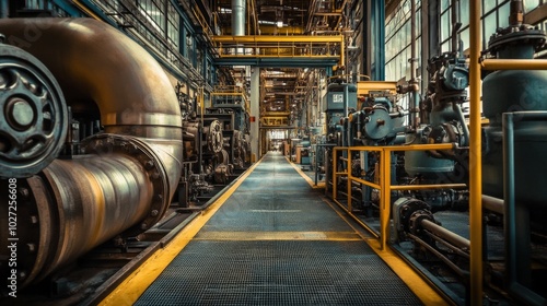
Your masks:
M 205 232 L 195 240 L 362 240 L 356 232 Z

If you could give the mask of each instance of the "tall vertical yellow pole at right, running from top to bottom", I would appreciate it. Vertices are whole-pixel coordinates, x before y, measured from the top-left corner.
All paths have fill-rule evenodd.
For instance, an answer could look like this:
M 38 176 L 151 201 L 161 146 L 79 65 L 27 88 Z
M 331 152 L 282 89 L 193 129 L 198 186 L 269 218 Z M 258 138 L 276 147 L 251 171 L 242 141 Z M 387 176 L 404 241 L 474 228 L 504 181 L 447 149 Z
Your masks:
M 482 168 L 480 118 L 480 2 L 469 3 L 469 234 L 470 305 L 482 305 Z

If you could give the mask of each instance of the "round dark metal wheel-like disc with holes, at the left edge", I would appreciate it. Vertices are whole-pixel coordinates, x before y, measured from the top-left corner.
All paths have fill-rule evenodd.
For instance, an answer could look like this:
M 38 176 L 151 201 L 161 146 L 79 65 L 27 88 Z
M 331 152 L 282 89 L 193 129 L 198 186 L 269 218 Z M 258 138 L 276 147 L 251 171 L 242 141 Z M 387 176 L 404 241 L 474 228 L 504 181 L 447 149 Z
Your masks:
M 0 177 L 30 177 L 59 154 L 68 110 L 59 84 L 35 57 L 0 45 Z

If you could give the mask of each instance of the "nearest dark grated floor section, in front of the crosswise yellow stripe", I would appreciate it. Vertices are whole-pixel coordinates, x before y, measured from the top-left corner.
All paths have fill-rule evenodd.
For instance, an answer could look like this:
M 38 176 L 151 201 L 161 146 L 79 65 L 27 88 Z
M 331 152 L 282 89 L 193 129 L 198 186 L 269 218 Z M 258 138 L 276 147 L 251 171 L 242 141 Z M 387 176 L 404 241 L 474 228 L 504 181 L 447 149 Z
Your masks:
M 421 305 L 364 242 L 191 242 L 136 305 Z

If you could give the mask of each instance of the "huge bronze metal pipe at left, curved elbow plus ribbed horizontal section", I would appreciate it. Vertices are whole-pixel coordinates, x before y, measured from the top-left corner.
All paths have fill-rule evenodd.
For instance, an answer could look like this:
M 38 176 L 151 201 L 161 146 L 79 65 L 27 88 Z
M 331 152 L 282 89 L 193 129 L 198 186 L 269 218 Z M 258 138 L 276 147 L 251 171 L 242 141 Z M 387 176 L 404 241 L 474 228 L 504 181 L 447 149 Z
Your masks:
M 37 234 L 22 237 L 35 246 L 19 254 L 26 285 L 161 219 L 181 177 L 182 119 L 161 66 L 106 23 L 9 19 L 0 33 L 48 67 L 75 113 L 98 107 L 105 129 L 83 141 L 86 155 L 54 161 L 20 190 L 35 203 L 37 213 L 28 214 L 39 224 Z

